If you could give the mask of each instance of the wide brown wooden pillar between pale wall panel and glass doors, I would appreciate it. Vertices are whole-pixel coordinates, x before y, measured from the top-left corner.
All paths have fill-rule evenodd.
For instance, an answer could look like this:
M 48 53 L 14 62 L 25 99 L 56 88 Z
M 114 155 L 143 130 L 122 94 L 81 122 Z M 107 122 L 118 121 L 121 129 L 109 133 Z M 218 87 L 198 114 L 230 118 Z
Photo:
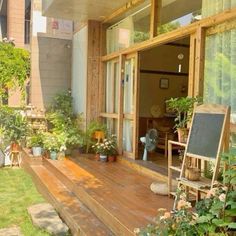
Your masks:
M 99 110 L 99 80 L 101 73 L 101 23 L 88 21 L 87 116 L 86 121 L 97 120 Z

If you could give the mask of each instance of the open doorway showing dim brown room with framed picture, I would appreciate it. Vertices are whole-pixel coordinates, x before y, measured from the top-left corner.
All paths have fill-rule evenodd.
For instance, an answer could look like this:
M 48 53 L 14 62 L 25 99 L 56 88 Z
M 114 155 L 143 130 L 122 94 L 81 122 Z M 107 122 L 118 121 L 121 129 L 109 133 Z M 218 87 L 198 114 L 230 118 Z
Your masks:
M 188 95 L 190 37 L 140 52 L 139 138 L 148 130 L 158 131 L 154 151 L 148 153 L 147 163 L 167 168 L 167 143 L 176 140 L 175 114 L 166 100 Z M 144 145 L 139 142 L 139 159 L 143 159 Z M 175 151 L 176 164 L 179 162 Z

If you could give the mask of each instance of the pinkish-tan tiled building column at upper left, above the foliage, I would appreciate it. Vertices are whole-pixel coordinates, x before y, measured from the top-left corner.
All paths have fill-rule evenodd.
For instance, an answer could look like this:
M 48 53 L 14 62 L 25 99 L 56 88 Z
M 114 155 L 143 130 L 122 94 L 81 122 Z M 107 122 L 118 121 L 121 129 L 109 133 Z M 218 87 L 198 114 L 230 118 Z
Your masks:
M 25 0 L 7 1 L 7 37 L 15 40 L 16 47 L 24 48 Z

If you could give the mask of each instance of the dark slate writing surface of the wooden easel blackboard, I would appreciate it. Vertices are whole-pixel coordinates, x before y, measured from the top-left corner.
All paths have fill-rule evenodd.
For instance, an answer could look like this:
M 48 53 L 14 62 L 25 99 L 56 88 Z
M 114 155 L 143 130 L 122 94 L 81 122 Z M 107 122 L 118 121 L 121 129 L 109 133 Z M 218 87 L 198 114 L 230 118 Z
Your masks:
M 195 113 L 187 153 L 216 158 L 225 114 Z

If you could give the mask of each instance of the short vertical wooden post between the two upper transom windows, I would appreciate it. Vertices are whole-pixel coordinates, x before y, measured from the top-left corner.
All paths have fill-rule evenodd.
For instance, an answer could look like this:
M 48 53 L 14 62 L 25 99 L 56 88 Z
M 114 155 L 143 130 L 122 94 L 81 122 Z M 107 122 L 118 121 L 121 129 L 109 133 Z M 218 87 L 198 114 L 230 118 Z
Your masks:
M 161 0 L 151 0 L 150 39 L 157 36 L 157 27 L 160 25 Z

